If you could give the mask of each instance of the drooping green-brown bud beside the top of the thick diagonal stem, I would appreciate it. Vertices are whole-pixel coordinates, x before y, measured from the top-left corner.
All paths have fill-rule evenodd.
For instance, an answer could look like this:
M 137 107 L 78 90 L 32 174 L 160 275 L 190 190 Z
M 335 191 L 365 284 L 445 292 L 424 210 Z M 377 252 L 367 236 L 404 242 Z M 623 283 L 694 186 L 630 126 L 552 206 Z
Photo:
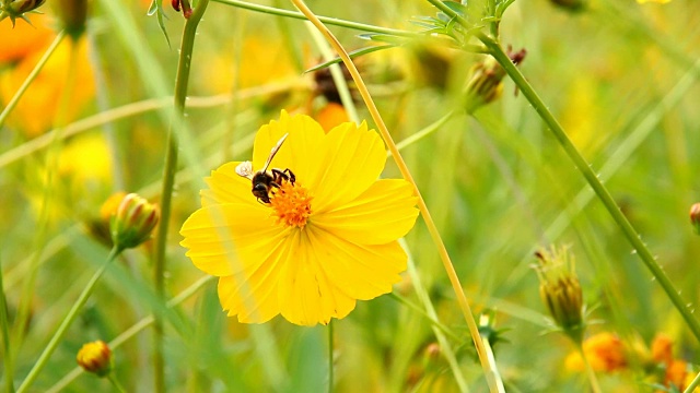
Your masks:
M 509 49 L 509 57 L 514 64 L 521 63 L 526 53 L 525 49 L 516 52 Z M 498 99 L 503 92 L 504 76 L 505 70 L 492 57 L 474 64 L 464 95 L 467 114 L 472 114 L 478 108 Z

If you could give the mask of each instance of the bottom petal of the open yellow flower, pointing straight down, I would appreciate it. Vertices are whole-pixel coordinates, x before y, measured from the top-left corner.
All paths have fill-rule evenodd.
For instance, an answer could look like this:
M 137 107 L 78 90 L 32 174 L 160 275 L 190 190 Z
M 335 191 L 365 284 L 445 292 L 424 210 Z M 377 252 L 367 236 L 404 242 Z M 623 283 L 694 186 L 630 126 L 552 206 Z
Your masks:
M 345 318 L 355 300 L 332 286 L 320 269 L 307 231 L 295 230 L 279 279 L 280 312 L 299 325 L 328 324 L 331 318 Z

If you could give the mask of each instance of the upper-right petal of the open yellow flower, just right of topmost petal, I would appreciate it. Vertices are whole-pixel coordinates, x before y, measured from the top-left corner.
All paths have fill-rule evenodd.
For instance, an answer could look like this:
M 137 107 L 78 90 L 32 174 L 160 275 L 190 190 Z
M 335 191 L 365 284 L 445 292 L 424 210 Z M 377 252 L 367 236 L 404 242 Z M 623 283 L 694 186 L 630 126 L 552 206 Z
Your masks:
M 345 123 L 330 130 L 324 140 L 324 157 L 316 165 L 320 176 L 304 183 L 315 194 L 313 211 L 324 213 L 354 200 L 380 177 L 386 152 L 380 135 Z

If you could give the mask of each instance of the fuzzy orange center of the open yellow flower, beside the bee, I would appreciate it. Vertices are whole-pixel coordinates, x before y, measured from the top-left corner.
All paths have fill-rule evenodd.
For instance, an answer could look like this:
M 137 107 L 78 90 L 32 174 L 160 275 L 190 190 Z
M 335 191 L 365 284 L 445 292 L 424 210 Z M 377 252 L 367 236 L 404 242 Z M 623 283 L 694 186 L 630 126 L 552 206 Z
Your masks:
M 301 187 L 299 182 L 292 184 L 289 181 L 282 181 L 281 187 L 275 190 L 270 198 L 272 215 L 277 217 L 278 224 L 303 228 L 311 215 L 312 199 L 308 190 Z

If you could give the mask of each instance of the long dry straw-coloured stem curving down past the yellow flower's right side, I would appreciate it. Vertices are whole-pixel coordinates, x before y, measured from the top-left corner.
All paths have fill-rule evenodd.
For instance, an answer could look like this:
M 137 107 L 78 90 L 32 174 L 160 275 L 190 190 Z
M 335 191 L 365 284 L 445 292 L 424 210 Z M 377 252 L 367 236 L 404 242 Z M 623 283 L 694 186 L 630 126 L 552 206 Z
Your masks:
M 495 390 L 495 381 L 492 378 L 493 376 L 491 376 L 490 372 L 489 372 L 490 367 L 489 367 L 489 364 L 488 364 L 488 359 L 486 357 L 486 350 L 483 348 L 483 343 L 481 342 L 481 336 L 479 334 L 479 329 L 477 326 L 476 321 L 474 320 L 474 315 L 471 313 L 471 308 L 469 307 L 469 302 L 467 301 L 467 297 L 465 296 L 464 290 L 462 289 L 462 284 L 459 283 L 459 278 L 457 277 L 457 273 L 455 272 L 454 265 L 452 264 L 452 261 L 450 259 L 450 254 L 447 253 L 447 249 L 445 248 L 445 245 L 442 241 L 442 237 L 440 236 L 440 231 L 438 230 L 438 227 L 436 227 L 435 223 L 433 222 L 432 216 L 430 215 L 430 212 L 428 210 L 428 205 L 425 204 L 425 201 L 423 200 L 423 198 L 422 198 L 422 195 L 420 193 L 420 190 L 418 189 L 418 186 L 416 184 L 416 181 L 413 180 L 413 177 L 412 177 L 410 170 L 408 169 L 408 166 L 406 165 L 406 162 L 404 160 L 404 157 L 401 156 L 401 154 L 399 153 L 398 148 L 396 147 L 396 144 L 394 143 L 394 140 L 392 139 L 392 135 L 390 135 L 386 124 L 384 123 L 384 120 L 382 119 L 382 116 L 380 115 L 380 111 L 378 111 L 376 105 L 374 104 L 374 100 L 372 99 L 372 96 L 370 95 L 370 92 L 368 91 L 366 85 L 362 81 L 362 76 L 358 72 L 357 67 L 354 66 L 354 63 L 350 59 L 350 56 L 345 50 L 342 45 L 340 45 L 338 39 L 332 35 L 332 33 L 330 33 L 330 31 L 328 31 L 328 28 L 323 24 L 323 22 L 319 21 L 318 17 L 316 17 L 316 15 L 314 15 L 314 13 L 306 7 L 304 1 L 303 0 L 292 0 L 292 3 L 294 3 L 294 5 L 296 5 L 296 8 L 299 8 L 299 10 L 304 15 L 306 15 L 306 17 L 316 26 L 316 28 L 318 28 L 320 31 L 320 33 L 326 37 L 326 39 L 328 39 L 329 44 L 334 47 L 334 49 L 336 49 L 336 51 L 338 52 L 338 56 L 340 56 L 340 58 L 342 59 L 342 62 L 346 64 L 346 67 L 348 68 L 348 71 L 352 75 L 352 80 L 354 81 L 354 83 L 357 85 L 357 88 L 360 92 L 360 95 L 362 95 L 362 99 L 364 100 L 364 104 L 368 106 L 368 109 L 370 110 L 370 114 L 372 115 L 372 119 L 376 123 L 376 126 L 380 129 L 380 132 L 381 132 L 384 141 L 386 142 L 389 151 L 392 152 L 392 155 L 394 156 L 394 159 L 396 160 L 396 165 L 398 166 L 399 170 L 401 171 L 401 175 L 404 176 L 404 178 L 407 181 L 409 181 L 413 186 L 413 192 L 418 196 L 418 209 L 420 210 L 420 213 L 423 216 L 423 221 L 425 222 L 425 226 L 428 227 L 428 231 L 430 233 L 430 236 L 431 236 L 433 242 L 435 243 L 435 247 L 438 248 L 438 252 L 440 254 L 440 259 L 443 262 L 444 269 L 445 269 L 445 271 L 447 273 L 447 276 L 450 277 L 450 282 L 452 284 L 452 287 L 453 287 L 453 289 L 455 291 L 455 295 L 457 296 L 457 300 L 458 300 L 459 307 L 460 307 L 462 312 L 464 314 L 465 321 L 467 322 L 467 326 L 469 329 L 469 333 L 471 334 L 471 340 L 474 341 L 474 344 L 475 344 L 475 346 L 477 348 L 477 354 L 479 355 L 479 360 L 481 361 L 481 367 L 483 368 L 485 372 L 487 373 L 487 381 L 489 383 L 489 386 L 491 388 L 491 390 Z

